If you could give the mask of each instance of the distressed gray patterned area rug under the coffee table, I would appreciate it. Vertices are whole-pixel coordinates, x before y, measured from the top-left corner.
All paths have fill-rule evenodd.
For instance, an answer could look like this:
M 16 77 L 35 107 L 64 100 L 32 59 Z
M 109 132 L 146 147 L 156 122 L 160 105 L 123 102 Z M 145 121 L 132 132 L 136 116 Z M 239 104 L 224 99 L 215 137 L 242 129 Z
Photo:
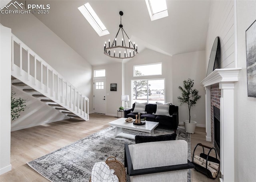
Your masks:
M 123 137 L 114 138 L 114 132 L 115 127 L 108 127 L 27 164 L 52 182 L 89 182 L 95 162 L 105 161 L 108 157 L 114 156 L 124 163 L 124 144 L 135 143 L 134 140 Z M 124 132 L 146 135 L 140 131 L 125 130 Z M 154 135 L 170 133 L 174 132 L 162 128 L 154 130 Z M 188 142 L 188 159 L 190 160 L 190 134 L 179 126 L 176 140 Z M 129 176 L 127 181 L 130 182 Z M 191 182 L 191 170 L 188 170 L 188 182 Z

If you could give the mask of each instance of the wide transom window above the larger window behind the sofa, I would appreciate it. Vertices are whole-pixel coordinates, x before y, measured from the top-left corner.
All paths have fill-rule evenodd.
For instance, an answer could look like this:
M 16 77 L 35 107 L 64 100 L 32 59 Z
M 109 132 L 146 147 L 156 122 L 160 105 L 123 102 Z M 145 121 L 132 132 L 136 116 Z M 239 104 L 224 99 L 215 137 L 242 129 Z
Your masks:
M 134 76 L 162 75 L 162 63 L 135 65 Z

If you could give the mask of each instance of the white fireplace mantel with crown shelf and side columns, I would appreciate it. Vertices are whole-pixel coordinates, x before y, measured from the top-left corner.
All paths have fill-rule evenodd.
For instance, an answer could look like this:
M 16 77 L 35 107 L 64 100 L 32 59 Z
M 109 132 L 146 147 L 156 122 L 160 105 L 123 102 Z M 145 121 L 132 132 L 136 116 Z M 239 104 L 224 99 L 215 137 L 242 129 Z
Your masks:
M 220 97 L 220 182 L 234 182 L 234 84 L 242 68 L 220 68 L 202 84 L 206 90 L 206 141 L 211 141 L 211 85 L 219 84 Z

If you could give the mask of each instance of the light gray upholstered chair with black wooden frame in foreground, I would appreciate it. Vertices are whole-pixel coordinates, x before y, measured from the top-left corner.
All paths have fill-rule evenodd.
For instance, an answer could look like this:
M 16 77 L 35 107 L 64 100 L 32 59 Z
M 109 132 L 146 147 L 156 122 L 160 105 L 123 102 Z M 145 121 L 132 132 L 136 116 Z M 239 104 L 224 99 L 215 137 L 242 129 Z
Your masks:
M 131 182 L 187 182 L 194 168 L 184 140 L 125 144 L 124 166 Z

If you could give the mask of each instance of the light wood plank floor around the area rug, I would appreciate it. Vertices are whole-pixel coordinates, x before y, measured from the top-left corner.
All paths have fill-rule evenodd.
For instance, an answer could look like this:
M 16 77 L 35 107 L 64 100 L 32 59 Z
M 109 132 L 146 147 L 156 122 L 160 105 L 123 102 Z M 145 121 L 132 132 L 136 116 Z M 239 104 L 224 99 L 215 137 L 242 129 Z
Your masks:
M 26 162 L 109 127 L 108 122 L 114 119 L 116 117 L 90 114 L 89 121 L 70 119 L 11 132 L 12 170 L 2 174 L 0 182 L 48 182 Z M 212 145 L 205 141 L 205 135 L 204 128 L 196 128 L 196 132 L 191 135 L 191 151 L 197 143 Z M 192 182 L 210 181 L 218 181 L 218 178 L 210 180 L 203 174 L 192 170 Z

